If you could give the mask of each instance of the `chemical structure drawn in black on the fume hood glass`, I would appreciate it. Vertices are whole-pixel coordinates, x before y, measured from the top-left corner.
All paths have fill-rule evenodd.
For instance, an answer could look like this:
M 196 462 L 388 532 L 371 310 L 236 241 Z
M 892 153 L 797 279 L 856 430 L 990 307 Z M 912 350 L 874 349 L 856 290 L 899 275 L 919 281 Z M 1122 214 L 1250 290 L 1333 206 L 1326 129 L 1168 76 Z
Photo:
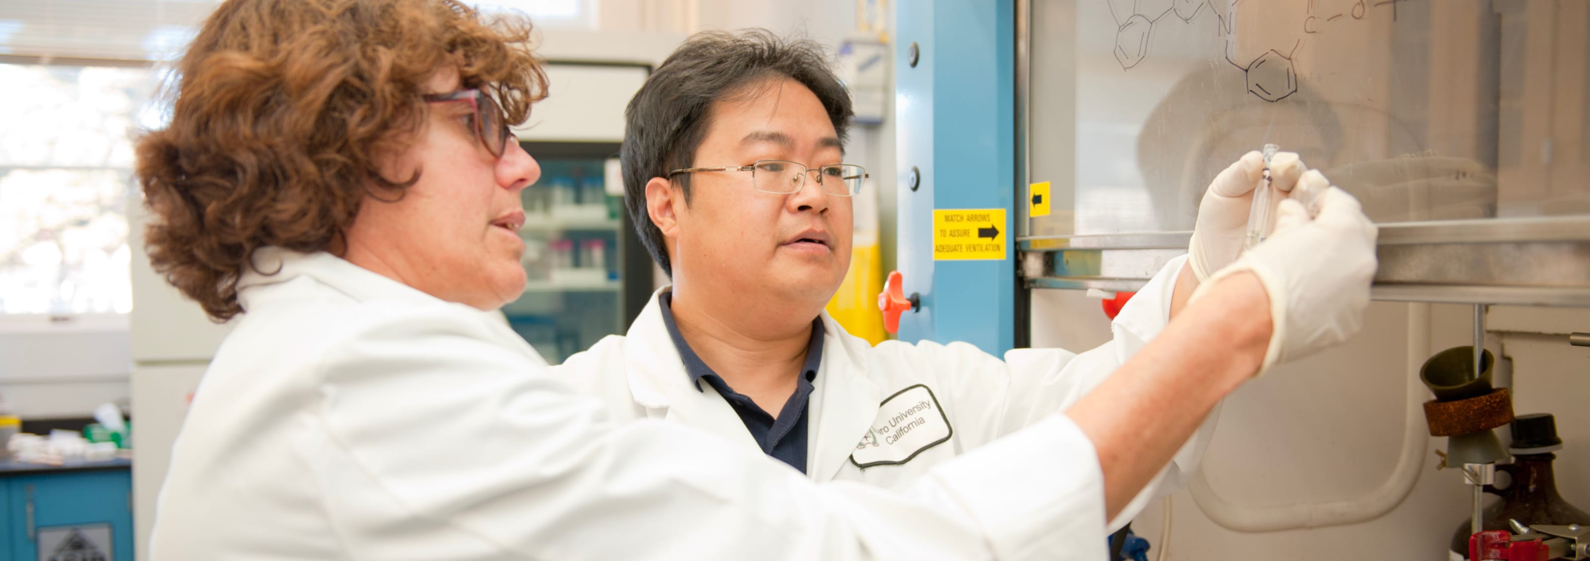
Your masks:
M 1165 16 L 1175 14 L 1183 24 L 1191 24 L 1199 16 L 1208 13 L 1215 17 L 1216 35 L 1224 38 L 1226 62 L 1248 76 L 1248 92 L 1266 102 L 1280 102 L 1297 92 L 1297 65 L 1294 57 L 1304 46 L 1304 38 L 1321 32 L 1321 21 L 1326 24 L 1344 17 L 1361 21 L 1369 16 L 1371 8 L 1390 6 L 1391 21 L 1396 21 L 1398 3 L 1409 0 L 1355 0 L 1345 11 L 1324 14 L 1318 10 L 1320 0 L 1309 0 L 1307 16 L 1297 25 L 1301 37 L 1293 41 L 1286 52 L 1267 49 L 1248 64 L 1235 59 L 1235 13 L 1243 0 L 1107 0 L 1110 14 L 1116 22 L 1115 60 L 1121 70 L 1130 70 L 1148 59 L 1154 25 L 1161 21 L 1170 24 Z M 1248 0 L 1253 2 L 1253 0 Z M 1337 2 L 1340 3 L 1340 2 Z

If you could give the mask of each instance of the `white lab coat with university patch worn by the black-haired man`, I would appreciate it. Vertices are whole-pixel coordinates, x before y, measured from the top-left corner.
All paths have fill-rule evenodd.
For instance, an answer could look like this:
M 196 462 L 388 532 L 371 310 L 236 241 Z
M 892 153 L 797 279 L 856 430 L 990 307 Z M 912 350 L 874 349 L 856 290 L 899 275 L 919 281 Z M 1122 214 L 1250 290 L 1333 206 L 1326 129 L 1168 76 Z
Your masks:
M 911 345 L 889 340 L 873 346 L 824 313 L 822 366 L 808 405 L 806 475 L 814 482 L 898 488 L 957 455 L 1067 410 L 1164 329 L 1175 277 L 1185 261 L 1185 256 L 1173 259 L 1132 297 L 1111 323 L 1111 342 L 1081 354 L 1024 348 L 1006 351 L 1000 361 L 962 342 Z M 666 288 L 658 294 L 663 291 Z M 690 381 L 657 296 L 626 335 L 606 337 L 553 372 L 601 397 L 617 420 L 668 420 L 760 451 L 728 402 L 709 385 L 698 389 Z M 890 399 L 897 394 L 903 399 Z M 919 416 L 922 421 L 916 421 Z M 1208 447 L 1215 416 L 1210 413 L 1175 458 L 1111 520 L 1110 531 L 1126 526 L 1150 501 L 1188 482 Z M 905 424 L 927 435 L 892 442 L 890 435 Z M 1081 474 L 1097 469 L 1088 462 L 1094 459 L 1075 458 L 1049 477 L 1084 477 Z M 1105 526 L 1094 534 L 1102 542 Z

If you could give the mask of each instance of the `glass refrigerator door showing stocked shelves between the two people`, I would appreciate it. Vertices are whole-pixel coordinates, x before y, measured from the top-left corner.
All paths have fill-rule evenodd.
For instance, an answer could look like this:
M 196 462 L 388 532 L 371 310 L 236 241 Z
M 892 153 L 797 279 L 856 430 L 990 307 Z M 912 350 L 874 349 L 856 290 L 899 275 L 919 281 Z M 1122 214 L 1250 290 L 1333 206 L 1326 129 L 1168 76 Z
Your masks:
M 623 207 L 619 143 L 522 141 L 541 180 L 525 205 L 523 294 L 509 326 L 550 364 L 623 334 L 655 286 L 653 264 Z

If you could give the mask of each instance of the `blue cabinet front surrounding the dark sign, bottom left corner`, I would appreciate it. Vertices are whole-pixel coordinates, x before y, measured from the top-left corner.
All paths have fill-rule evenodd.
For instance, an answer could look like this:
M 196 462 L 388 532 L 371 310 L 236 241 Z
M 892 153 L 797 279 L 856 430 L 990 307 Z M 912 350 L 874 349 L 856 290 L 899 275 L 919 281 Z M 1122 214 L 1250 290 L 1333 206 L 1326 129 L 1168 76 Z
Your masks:
M 132 474 L 129 470 L 87 470 L 5 478 L 11 493 L 11 558 L 37 559 L 37 544 L 25 528 L 27 494 L 33 486 L 33 521 L 38 528 L 108 523 L 113 559 L 132 561 Z

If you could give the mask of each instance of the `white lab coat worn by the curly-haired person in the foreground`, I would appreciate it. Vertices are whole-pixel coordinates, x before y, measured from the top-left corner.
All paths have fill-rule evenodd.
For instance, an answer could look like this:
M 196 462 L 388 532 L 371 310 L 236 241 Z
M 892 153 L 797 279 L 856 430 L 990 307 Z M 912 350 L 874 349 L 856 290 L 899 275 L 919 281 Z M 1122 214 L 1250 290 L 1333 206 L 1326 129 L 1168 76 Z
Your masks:
M 911 466 L 919 477 L 895 489 L 812 483 L 711 434 L 738 420 L 665 423 L 576 393 L 488 313 L 326 253 L 262 250 L 254 261 L 275 273 L 242 277 L 246 313 L 176 439 L 151 559 L 1105 556 L 1097 456 L 1065 416 L 986 413 L 1043 420 L 932 469 Z M 843 346 L 854 359 L 884 356 Z M 992 375 L 992 362 L 952 350 L 935 353 Z M 854 380 L 860 391 L 871 378 Z M 833 405 L 847 397 L 820 399 L 817 412 L 846 421 L 822 418 L 819 432 L 860 424 Z M 1008 432 L 960 423 L 968 435 Z

